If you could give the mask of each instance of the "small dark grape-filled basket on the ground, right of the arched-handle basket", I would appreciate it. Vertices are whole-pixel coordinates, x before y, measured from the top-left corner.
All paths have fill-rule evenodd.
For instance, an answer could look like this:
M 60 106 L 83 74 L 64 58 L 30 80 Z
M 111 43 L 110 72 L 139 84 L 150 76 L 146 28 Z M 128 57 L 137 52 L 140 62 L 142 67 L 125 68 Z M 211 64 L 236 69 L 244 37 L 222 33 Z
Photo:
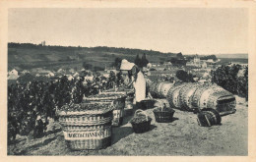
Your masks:
M 153 110 L 156 121 L 159 123 L 169 123 L 173 120 L 174 110 L 169 109 L 169 111 L 164 111 L 163 108 L 156 107 Z

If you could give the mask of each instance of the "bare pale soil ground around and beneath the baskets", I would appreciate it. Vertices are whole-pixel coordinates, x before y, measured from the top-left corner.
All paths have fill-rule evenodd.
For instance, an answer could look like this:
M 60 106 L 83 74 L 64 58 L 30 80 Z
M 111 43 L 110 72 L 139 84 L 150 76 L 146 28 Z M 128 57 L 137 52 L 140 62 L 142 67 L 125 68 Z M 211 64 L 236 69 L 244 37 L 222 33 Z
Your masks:
M 151 131 L 133 133 L 130 117 L 124 125 L 112 130 L 112 145 L 101 150 L 71 151 L 57 122 L 50 123 L 55 132 L 27 139 L 17 137 L 8 145 L 8 155 L 152 155 L 152 156 L 247 156 L 248 106 L 243 98 L 236 97 L 236 112 L 224 116 L 221 126 L 199 127 L 196 115 L 175 110 L 171 123 L 157 123 L 152 109 L 146 110 L 153 118 Z

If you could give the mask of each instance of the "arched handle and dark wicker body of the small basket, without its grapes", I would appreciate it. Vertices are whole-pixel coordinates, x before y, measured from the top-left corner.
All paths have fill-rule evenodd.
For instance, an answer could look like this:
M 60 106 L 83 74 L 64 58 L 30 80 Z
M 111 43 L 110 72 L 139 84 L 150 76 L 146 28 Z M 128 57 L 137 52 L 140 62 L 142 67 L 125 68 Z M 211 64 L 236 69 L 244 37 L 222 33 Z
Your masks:
M 134 113 L 134 118 L 136 118 L 139 114 L 144 114 L 146 116 L 146 121 L 135 123 L 131 120 L 132 128 L 135 134 L 142 134 L 150 131 L 151 121 L 152 119 L 141 109 L 138 109 Z

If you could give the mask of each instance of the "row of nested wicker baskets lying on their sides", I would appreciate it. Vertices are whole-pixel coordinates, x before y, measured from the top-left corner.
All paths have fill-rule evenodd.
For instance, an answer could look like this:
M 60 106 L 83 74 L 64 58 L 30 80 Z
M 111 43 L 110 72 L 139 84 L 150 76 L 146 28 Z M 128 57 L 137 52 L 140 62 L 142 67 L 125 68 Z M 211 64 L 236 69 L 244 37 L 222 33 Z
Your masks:
M 184 111 L 214 108 L 221 115 L 235 112 L 234 95 L 217 84 L 152 82 L 150 92 L 153 97 L 166 98 L 171 107 Z

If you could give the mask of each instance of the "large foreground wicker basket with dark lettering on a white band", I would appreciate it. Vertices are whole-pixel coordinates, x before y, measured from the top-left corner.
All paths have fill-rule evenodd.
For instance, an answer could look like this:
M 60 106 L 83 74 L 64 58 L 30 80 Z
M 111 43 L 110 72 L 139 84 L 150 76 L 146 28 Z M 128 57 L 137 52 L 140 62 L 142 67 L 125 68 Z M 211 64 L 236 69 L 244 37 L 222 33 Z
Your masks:
M 86 106 L 96 104 L 99 105 L 97 110 L 84 109 Z M 84 103 L 75 106 L 80 110 L 74 110 L 72 106 L 57 111 L 68 147 L 73 150 L 83 150 L 101 149 L 111 145 L 113 104 Z

